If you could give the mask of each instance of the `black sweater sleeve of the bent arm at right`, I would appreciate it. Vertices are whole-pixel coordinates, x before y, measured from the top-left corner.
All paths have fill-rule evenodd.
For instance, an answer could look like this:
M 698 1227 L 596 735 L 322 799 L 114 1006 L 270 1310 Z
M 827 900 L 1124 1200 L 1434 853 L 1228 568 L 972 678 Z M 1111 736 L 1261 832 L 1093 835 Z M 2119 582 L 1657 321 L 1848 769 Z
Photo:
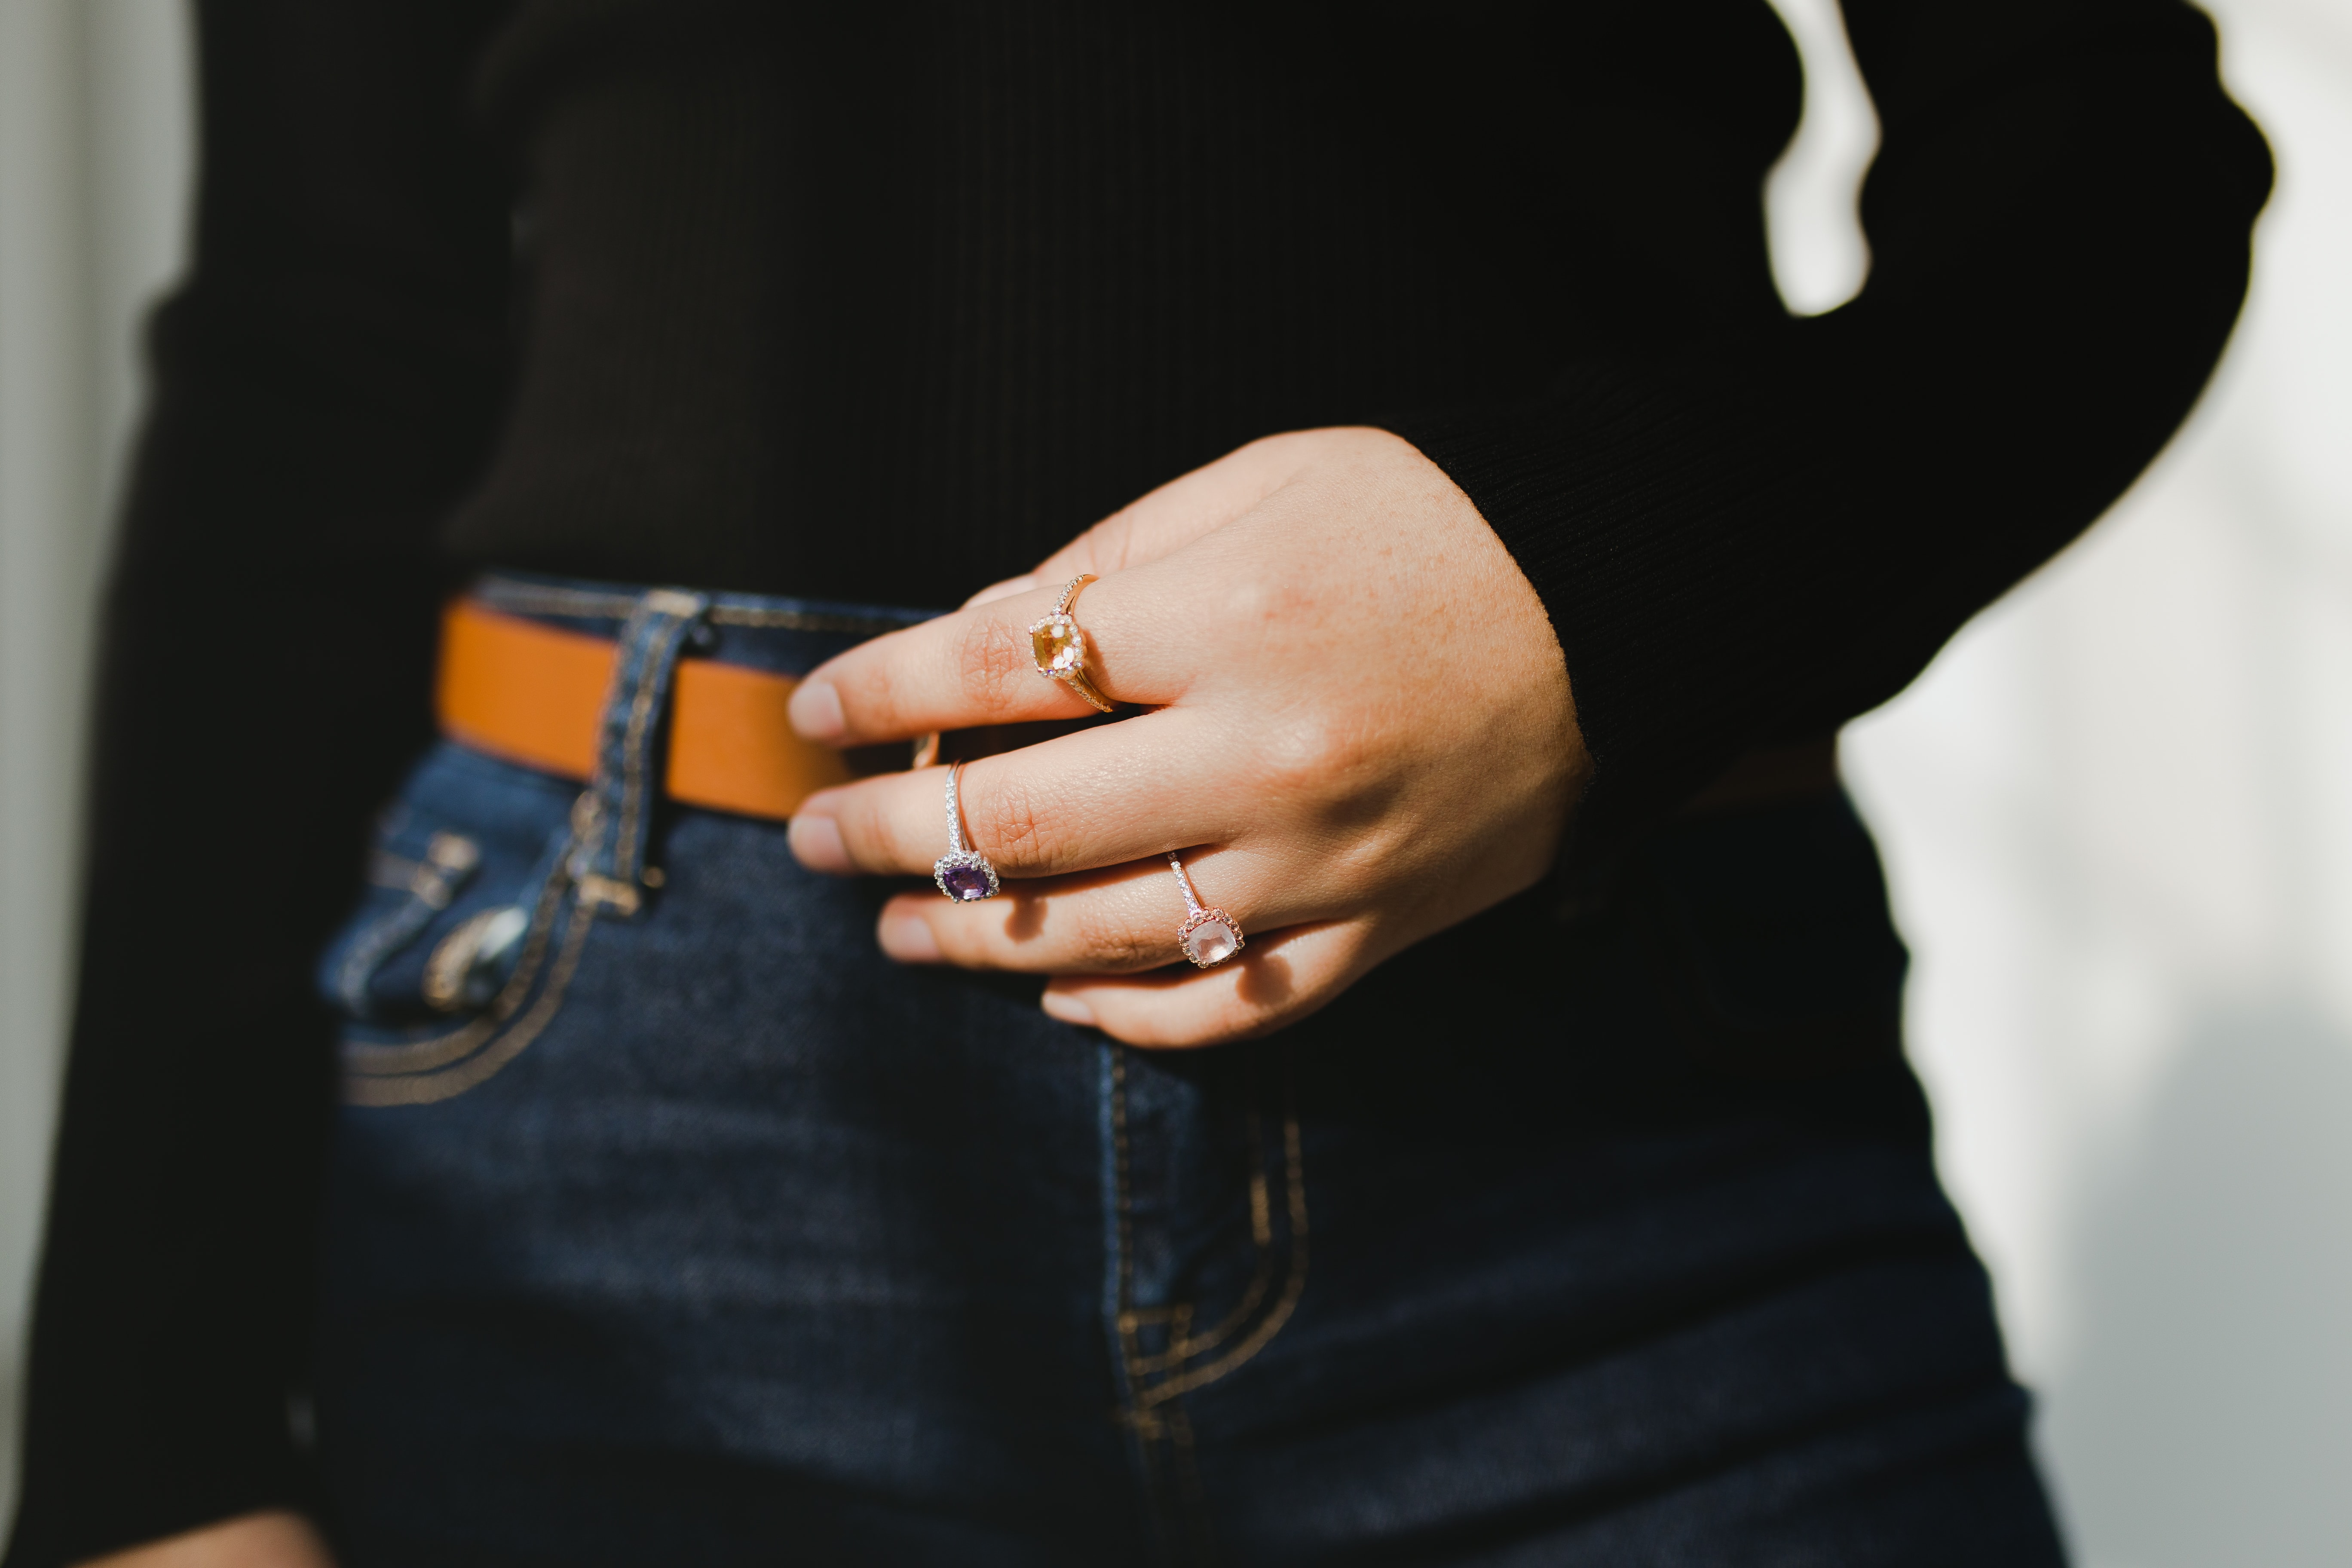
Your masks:
M 1882 122 L 1849 306 L 1385 421 L 1536 585 L 1590 879 L 1743 750 L 1830 733 L 2091 524 L 2197 400 L 2270 190 L 2178 0 L 1844 0 Z

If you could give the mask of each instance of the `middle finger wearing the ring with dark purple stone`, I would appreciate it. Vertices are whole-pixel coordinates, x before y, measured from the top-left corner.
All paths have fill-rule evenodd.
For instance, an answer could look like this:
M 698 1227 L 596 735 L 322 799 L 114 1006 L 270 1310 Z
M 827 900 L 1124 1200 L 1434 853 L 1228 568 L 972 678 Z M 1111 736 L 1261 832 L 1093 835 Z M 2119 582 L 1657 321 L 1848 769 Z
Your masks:
M 1188 844 L 1228 844 L 1249 809 L 1216 780 L 1216 722 L 1164 710 L 967 762 L 964 842 L 1000 877 L 1058 877 Z M 793 816 L 811 872 L 922 877 L 948 849 L 948 769 L 823 790 Z

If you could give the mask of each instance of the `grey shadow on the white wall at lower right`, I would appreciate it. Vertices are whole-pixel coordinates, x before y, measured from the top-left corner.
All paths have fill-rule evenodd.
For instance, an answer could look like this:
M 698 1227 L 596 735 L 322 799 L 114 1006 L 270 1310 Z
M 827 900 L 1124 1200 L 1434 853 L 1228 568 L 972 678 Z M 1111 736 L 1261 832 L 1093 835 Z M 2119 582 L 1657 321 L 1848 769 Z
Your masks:
M 2352 1041 L 2213 1018 L 2098 1187 L 2044 1425 L 2084 1566 L 2352 1563 Z

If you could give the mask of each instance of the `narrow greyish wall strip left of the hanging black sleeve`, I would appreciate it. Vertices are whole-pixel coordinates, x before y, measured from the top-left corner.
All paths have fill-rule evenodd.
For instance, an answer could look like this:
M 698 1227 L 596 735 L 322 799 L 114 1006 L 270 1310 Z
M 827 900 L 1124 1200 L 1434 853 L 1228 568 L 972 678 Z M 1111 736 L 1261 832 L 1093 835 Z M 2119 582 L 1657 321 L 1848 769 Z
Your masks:
M 174 0 L 0 0 L 0 1519 L 66 1018 L 89 607 L 134 320 L 181 252 L 183 33 Z

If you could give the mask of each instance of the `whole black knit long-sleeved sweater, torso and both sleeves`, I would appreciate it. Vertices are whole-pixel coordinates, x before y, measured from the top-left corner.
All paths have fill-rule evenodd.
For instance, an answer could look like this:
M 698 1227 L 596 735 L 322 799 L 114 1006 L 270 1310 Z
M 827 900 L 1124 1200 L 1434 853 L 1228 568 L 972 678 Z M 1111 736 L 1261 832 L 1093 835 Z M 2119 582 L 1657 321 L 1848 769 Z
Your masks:
M 1552 614 L 1578 865 L 1900 689 L 2171 435 L 2270 165 L 2176 0 L 1846 24 L 1872 277 L 1795 322 L 1762 0 L 202 7 L 7 1568 L 306 1495 L 306 976 L 468 564 L 946 607 L 1369 421 Z

